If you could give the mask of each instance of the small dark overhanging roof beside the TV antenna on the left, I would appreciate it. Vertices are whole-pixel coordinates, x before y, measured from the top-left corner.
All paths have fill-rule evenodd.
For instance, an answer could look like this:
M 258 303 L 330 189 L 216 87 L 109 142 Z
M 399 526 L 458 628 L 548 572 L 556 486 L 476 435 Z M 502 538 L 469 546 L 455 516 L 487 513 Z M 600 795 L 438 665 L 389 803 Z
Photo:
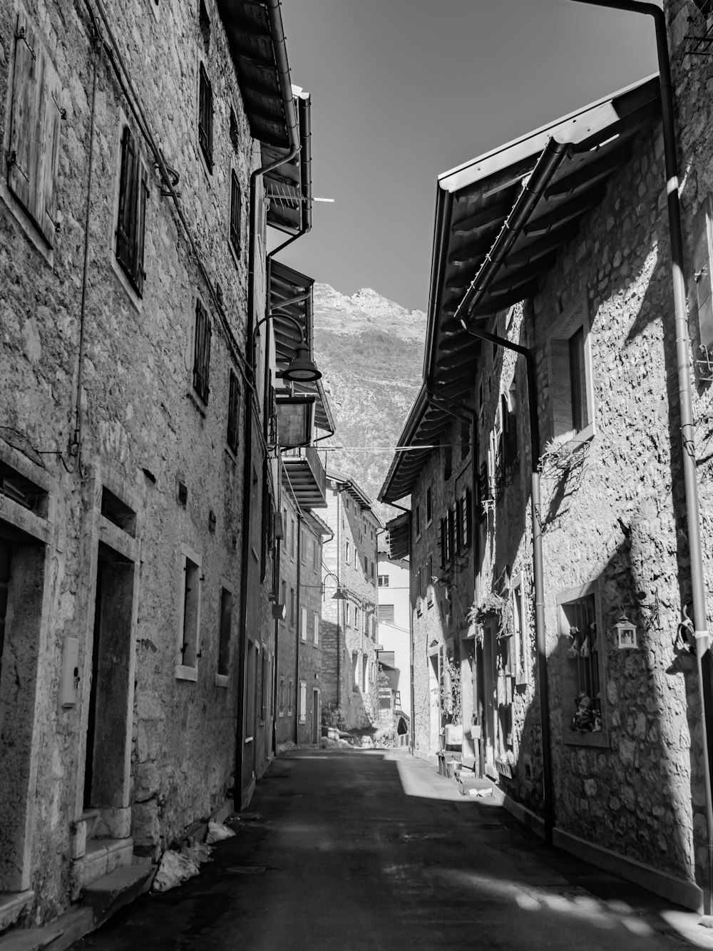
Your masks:
M 312 130 L 308 92 L 293 87 L 298 116 L 299 152 L 264 176 L 267 223 L 289 235 L 312 227 Z M 279 158 L 283 149 L 262 146 L 262 165 Z

